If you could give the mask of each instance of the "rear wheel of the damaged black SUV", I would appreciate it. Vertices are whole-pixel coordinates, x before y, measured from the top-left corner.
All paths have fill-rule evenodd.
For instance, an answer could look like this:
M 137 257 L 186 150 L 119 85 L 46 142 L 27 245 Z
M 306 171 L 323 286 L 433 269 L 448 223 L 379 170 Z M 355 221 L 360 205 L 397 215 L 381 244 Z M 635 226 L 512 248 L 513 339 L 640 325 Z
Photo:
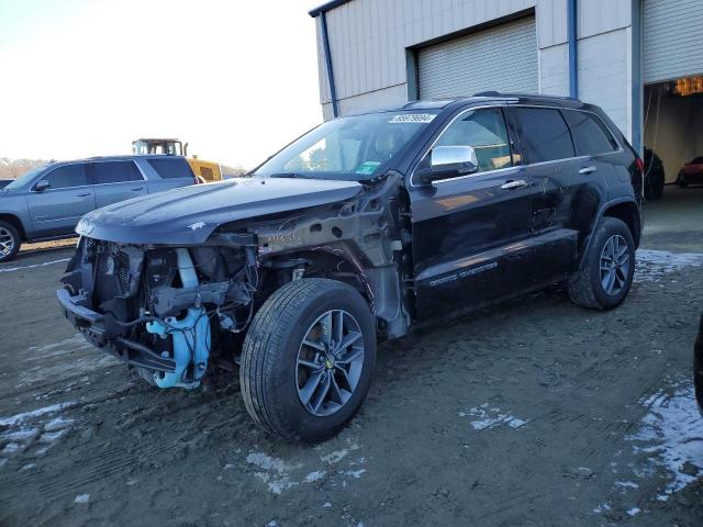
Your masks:
M 617 307 L 633 283 L 635 243 L 622 220 L 603 217 L 593 231 L 581 269 L 569 281 L 569 296 L 580 306 L 593 310 Z

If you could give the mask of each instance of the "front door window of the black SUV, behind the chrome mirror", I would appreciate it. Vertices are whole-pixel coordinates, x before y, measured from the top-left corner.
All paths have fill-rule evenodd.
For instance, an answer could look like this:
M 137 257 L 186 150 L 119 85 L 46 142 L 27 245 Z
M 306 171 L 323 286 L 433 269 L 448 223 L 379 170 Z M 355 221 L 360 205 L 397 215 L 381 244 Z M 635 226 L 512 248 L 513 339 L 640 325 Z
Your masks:
M 480 172 L 513 165 L 500 108 L 471 110 L 460 115 L 442 133 L 435 146 L 472 146 Z

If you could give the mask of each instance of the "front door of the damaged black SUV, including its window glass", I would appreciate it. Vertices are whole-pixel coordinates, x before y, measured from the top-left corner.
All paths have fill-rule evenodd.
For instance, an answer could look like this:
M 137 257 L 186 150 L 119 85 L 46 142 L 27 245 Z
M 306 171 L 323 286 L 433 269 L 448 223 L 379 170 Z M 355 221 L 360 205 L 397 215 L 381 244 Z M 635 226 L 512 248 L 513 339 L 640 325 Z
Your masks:
M 419 319 L 521 291 L 532 259 L 534 188 L 515 166 L 503 110 L 460 113 L 435 146 L 473 147 L 479 171 L 428 187 L 411 181 Z

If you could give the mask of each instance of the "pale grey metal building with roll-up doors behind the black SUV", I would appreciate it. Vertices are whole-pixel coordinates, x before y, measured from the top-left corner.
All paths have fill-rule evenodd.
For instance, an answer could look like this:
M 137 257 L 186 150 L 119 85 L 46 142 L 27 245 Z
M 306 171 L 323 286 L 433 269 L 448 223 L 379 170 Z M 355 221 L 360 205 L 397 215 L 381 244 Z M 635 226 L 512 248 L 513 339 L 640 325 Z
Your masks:
M 654 147 L 669 180 L 703 155 L 703 0 L 334 0 L 310 14 L 325 119 L 489 90 L 570 94 Z

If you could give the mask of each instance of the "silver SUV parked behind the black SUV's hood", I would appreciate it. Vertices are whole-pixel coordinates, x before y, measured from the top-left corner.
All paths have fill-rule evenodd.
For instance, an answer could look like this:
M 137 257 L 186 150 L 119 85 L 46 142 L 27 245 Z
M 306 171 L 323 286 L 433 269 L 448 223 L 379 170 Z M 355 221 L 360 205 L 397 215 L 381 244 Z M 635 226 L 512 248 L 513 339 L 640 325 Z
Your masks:
M 0 262 L 22 242 L 75 236 L 83 214 L 118 201 L 198 183 L 177 156 L 96 157 L 49 162 L 0 189 Z

